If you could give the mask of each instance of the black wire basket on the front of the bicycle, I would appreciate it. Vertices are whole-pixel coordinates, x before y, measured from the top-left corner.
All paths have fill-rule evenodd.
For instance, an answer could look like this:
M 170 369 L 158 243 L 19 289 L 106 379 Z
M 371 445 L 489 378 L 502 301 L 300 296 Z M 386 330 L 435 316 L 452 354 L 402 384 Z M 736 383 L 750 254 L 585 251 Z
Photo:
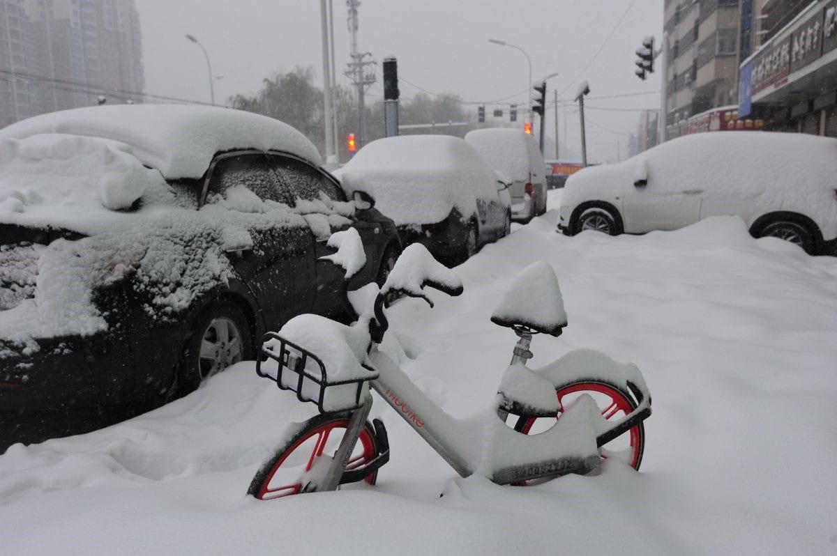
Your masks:
M 311 401 L 321 413 L 357 410 L 363 405 L 368 381 L 377 379 L 376 370 L 362 365 L 369 371 L 363 378 L 329 380 L 319 357 L 275 332 L 264 334 L 261 355 L 256 361 L 259 376 L 274 380 L 281 390 L 295 392 L 297 400 Z M 275 377 L 262 368 L 269 359 L 278 364 Z

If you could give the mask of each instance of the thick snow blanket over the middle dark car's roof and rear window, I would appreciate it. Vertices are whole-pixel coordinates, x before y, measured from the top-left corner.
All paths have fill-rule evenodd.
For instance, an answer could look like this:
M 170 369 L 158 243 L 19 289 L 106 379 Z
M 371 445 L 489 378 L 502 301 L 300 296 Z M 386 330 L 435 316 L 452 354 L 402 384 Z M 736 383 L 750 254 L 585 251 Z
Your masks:
M 335 172 L 343 186 L 367 191 L 398 225 L 440 222 L 456 208 L 476 211 L 476 199 L 496 198 L 496 173 L 459 137 L 401 135 L 365 145 Z

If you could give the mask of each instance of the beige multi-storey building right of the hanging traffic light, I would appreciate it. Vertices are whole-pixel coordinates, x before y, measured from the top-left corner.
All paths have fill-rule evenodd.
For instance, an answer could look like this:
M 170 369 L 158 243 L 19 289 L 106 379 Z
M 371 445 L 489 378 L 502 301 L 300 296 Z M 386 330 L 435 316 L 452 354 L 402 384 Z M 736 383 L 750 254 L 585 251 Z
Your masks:
M 744 0 L 743 3 L 752 3 Z M 695 115 L 737 104 L 742 0 L 665 0 L 666 137 Z

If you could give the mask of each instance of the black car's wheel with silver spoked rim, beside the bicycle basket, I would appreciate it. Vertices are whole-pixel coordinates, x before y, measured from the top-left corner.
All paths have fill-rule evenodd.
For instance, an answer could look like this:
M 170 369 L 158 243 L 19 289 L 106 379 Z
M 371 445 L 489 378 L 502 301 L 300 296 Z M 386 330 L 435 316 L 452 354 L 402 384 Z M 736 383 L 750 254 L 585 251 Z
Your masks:
M 197 390 L 230 365 L 253 358 L 253 334 L 244 311 L 229 300 L 209 305 L 198 314 L 183 348 L 176 397 Z

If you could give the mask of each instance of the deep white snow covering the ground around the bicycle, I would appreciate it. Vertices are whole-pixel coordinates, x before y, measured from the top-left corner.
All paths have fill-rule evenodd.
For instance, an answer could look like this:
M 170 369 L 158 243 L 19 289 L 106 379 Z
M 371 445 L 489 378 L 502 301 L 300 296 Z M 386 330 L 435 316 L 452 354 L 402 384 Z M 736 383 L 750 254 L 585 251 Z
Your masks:
M 654 395 L 641 472 L 461 479 L 378 403 L 393 457 L 377 486 L 258 502 L 250 478 L 311 405 L 245 362 L 131 421 L 12 446 L 0 552 L 837 553 L 837 258 L 754 240 L 732 217 L 643 237 L 564 237 L 556 218 L 460 266 L 460 298 L 393 308 L 406 370 L 454 415 L 484 406 L 515 340 L 490 312 L 517 269 L 545 259 L 569 326 L 537 337 L 531 363 L 589 347 L 639 365 Z

